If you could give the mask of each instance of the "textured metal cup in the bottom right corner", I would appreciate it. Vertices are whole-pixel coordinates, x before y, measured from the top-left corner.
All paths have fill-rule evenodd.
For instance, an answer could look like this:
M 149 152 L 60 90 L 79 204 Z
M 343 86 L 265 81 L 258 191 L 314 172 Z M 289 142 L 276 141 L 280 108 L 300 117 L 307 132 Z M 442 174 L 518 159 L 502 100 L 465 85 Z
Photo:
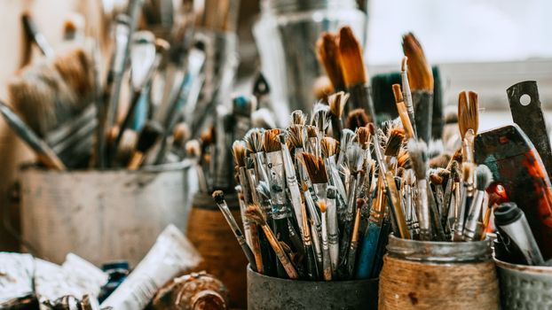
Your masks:
M 503 310 L 552 308 L 552 267 L 494 261 L 501 284 Z

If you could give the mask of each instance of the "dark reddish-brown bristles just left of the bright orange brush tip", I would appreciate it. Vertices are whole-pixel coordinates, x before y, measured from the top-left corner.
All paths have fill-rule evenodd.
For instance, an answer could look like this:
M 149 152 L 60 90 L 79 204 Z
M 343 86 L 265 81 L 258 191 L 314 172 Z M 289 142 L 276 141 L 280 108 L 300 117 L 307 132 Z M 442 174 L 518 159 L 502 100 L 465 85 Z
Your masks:
M 334 85 L 335 89 L 343 89 L 343 72 L 339 63 L 339 46 L 337 45 L 337 35 L 324 32 L 320 35 L 316 43 L 316 51 L 319 62 L 324 66 L 327 77 Z

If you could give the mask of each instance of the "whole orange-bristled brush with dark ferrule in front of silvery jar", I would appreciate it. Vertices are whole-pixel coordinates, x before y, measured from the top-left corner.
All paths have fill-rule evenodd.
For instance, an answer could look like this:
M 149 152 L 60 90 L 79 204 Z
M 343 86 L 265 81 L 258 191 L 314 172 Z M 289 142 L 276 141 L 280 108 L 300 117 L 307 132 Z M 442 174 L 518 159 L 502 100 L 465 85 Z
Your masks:
M 343 71 L 343 81 L 347 91 L 351 94 L 350 105 L 345 109 L 364 109 L 369 122 L 375 122 L 375 110 L 364 60 L 362 47 L 352 33 L 351 27 L 342 27 L 339 30 L 339 62 Z

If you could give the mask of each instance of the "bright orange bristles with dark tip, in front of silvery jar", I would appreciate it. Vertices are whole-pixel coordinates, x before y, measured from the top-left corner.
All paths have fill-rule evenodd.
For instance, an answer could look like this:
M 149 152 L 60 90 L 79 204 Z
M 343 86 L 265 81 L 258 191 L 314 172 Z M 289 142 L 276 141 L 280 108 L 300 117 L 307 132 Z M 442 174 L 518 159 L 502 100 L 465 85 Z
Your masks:
M 368 81 L 362 58 L 362 47 L 352 33 L 351 27 L 339 29 L 339 61 L 343 71 L 343 81 L 347 88 Z

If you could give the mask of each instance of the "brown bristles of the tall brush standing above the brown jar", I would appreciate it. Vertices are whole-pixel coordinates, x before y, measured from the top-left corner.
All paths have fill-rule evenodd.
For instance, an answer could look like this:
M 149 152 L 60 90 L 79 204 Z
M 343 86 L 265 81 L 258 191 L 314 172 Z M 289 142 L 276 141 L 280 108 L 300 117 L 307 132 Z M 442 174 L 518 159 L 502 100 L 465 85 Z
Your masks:
M 412 90 L 433 91 L 433 72 L 422 50 L 422 45 L 412 33 L 403 35 L 403 52 L 409 60 L 408 82 Z

